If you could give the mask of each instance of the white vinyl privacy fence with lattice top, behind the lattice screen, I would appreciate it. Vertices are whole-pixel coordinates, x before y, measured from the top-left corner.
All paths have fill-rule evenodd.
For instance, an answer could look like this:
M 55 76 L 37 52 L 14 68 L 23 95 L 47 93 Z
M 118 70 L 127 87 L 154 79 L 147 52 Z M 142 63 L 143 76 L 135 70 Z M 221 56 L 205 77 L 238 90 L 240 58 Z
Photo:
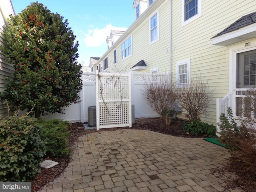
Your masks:
M 112 76 L 112 74 L 110 76 Z M 94 73 L 83 73 L 83 88 L 79 93 L 81 102 L 78 104 L 72 104 L 65 108 L 65 114 L 48 114 L 45 116 L 45 118 L 58 118 L 70 122 L 88 122 L 88 106 L 96 106 L 96 78 L 98 78 L 98 76 L 96 76 Z M 140 92 L 140 90 L 143 89 L 145 80 L 152 80 L 152 74 L 130 73 L 129 82 L 131 85 L 131 98 L 129 98 L 129 100 L 131 100 L 131 104 L 134 105 L 135 118 L 158 117 L 156 111 L 154 111 L 151 106 L 146 104 L 146 101 Z

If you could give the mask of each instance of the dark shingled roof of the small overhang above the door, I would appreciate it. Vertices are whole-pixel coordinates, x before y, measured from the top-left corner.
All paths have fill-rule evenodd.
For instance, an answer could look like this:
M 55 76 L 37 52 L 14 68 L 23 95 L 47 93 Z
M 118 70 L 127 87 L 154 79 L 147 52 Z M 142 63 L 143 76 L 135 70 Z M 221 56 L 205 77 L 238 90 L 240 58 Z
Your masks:
M 226 34 L 228 32 L 232 32 L 234 30 L 238 30 L 240 28 L 243 28 L 245 26 L 248 26 L 250 24 L 256 23 L 256 12 L 250 13 L 248 15 L 242 16 L 240 19 L 236 20 L 236 22 L 232 23 L 230 26 L 228 26 L 226 29 L 224 29 L 222 32 L 219 32 L 216 36 L 220 36 L 222 34 Z

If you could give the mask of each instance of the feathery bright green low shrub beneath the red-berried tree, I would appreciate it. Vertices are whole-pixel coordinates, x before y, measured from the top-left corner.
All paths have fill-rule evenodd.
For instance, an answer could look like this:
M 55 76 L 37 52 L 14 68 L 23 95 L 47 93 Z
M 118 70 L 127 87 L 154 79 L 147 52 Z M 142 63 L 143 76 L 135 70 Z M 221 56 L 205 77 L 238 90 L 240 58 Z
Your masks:
M 46 141 L 47 156 L 70 156 L 71 148 L 68 148 L 67 138 L 71 135 L 68 131 L 69 122 L 58 119 L 36 120 L 41 127 L 40 137 Z

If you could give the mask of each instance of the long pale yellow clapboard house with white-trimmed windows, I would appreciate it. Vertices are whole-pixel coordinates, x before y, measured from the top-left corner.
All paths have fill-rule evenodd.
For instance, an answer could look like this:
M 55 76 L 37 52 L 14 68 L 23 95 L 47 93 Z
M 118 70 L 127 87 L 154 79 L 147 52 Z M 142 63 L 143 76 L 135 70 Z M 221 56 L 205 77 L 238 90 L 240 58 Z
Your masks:
M 134 23 L 98 60 L 99 71 L 170 73 L 183 84 L 200 75 L 214 91 L 202 120 L 216 125 L 228 106 L 236 114 L 242 91 L 256 86 L 255 0 L 134 0 L 133 7 Z

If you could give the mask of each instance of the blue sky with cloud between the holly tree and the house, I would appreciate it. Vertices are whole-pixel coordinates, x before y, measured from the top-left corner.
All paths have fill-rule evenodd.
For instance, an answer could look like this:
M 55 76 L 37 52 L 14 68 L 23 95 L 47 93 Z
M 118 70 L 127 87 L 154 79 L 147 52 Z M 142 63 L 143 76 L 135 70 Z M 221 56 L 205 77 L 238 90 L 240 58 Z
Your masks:
M 17 14 L 35 1 L 12 0 L 12 5 Z M 126 30 L 135 20 L 134 0 L 37 1 L 68 20 L 79 42 L 77 61 L 84 66 L 89 65 L 90 57 L 101 57 L 106 52 L 106 37 L 111 30 Z

